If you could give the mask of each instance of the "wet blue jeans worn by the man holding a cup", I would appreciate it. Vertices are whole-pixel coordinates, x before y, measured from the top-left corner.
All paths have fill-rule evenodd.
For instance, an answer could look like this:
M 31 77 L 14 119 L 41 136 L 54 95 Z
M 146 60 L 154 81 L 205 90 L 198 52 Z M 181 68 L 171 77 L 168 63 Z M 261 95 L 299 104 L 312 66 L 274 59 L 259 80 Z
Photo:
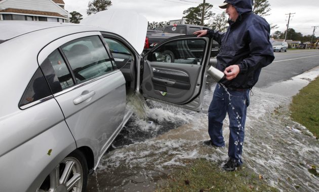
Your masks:
M 220 84 L 215 87 L 213 100 L 208 109 L 208 133 L 214 145 L 224 147 L 222 127 L 223 120 L 228 113 L 228 156 L 235 159 L 238 165 L 241 165 L 243 164 L 242 152 L 246 113 L 249 106 L 249 89 L 243 91 L 227 89 L 227 91 Z

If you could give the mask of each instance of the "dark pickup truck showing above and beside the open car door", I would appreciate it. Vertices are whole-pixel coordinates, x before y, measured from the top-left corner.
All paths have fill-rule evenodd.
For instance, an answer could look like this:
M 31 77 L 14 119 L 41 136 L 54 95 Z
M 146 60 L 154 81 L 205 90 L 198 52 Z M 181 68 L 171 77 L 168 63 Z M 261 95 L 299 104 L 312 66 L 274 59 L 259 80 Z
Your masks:
M 156 46 L 156 44 L 170 37 L 178 36 L 178 35 L 191 35 L 193 34 L 193 32 L 198 30 L 203 30 L 203 29 L 209 30 L 210 28 L 205 26 L 190 25 L 190 24 L 166 26 L 162 33 L 153 33 L 153 34 L 146 35 L 143 53 L 146 53 L 147 51 L 152 49 L 154 46 Z M 211 57 L 217 56 L 217 54 L 219 53 L 219 48 L 220 48 L 219 44 L 216 41 L 214 41 L 212 45 Z

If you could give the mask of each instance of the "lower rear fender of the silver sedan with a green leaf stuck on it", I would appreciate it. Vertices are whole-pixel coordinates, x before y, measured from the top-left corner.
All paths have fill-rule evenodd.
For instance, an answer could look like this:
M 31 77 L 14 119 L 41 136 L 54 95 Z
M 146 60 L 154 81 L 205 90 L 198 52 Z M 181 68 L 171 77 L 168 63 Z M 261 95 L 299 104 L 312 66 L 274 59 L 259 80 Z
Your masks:
M 0 157 L 0 191 L 35 191 L 75 149 L 66 123 L 54 125 Z

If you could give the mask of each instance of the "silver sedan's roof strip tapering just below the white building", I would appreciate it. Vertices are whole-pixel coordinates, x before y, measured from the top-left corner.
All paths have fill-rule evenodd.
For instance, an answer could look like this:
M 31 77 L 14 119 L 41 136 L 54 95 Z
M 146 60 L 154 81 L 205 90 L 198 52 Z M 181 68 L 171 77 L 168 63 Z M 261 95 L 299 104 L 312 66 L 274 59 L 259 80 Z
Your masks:
M 70 26 L 76 24 L 72 23 L 58 23 L 58 22 L 39 22 L 39 21 L 0 21 L 0 41 L 12 39 L 14 37 L 42 29 Z

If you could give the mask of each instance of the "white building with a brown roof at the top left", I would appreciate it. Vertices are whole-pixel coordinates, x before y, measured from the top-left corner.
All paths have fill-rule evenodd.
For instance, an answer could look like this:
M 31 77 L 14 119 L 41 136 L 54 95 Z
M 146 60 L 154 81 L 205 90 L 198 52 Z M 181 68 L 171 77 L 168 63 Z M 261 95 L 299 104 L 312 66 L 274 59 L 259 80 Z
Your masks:
M 63 0 L 0 0 L 0 20 L 69 22 Z

